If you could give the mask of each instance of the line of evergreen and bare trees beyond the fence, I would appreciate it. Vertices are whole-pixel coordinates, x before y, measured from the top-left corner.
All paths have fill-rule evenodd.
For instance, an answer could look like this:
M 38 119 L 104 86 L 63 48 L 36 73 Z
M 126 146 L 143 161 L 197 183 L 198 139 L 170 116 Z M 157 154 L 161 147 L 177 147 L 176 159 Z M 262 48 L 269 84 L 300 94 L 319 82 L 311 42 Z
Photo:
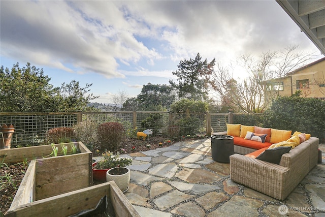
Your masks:
M 143 85 L 141 93 L 128 98 L 125 91 L 113 97 L 113 104 L 90 103 L 98 98 L 89 94 L 92 84 L 80 87 L 73 80 L 69 84 L 53 87 L 51 78 L 27 63 L 26 67 L 13 66 L 11 71 L 1 67 L 0 110 L 2 112 L 51 112 L 51 111 L 168 111 L 171 105 L 182 99 L 202 101 L 210 112 L 255 113 L 265 110 L 278 91 L 265 97 L 264 81 L 280 79 L 286 73 L 302 67 L 311 59 L 311 54 L 296 51 L 297 46 L 281 51 L 262 53 L 258 58 L 242 55 L 238 63 L 249 76 L 240 81 L 232 76 L 232 68 L 202 59 L 200 53 L 195 58 L 181 60 L 178 70 L 172 72 L 176 81 L 169 84 Z M 216 99 L 211 98 L 217 97 Z M 89 106 L 90 105 L 90 106 Z M 184 108 L 186 110 L 186 108 Z

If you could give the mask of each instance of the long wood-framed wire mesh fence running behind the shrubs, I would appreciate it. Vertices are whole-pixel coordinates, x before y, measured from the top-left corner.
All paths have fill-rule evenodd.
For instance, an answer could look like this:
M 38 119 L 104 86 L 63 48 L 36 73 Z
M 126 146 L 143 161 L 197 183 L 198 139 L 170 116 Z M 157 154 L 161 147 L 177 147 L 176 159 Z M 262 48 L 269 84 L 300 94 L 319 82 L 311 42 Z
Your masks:
M 71 128 L 83 120 L 97 123 L 119 121 L 126 129 L 141 130 L 142 121 L 151 114 L 160 114 L 163 127 L 156 129 L 158 134 L 173 131 L 175 128 L 196 128 L 200 133 L 211 135 L 212 132 L 226 130 L 226 123 L 232 123 L 232 113 L 171 113 L 157 111 L 125 111 L 125 112 L 49 112 L 49 113 L 0 113 L 0 124 L 12 123 L 15 132 L 12 136 L 12 146 L 19 144 L 43 144 L 49 129 Z M 198 126 L 173 126 L 173 121 L 190 116 L 198 119 Z M 2 134 L 1 134 L 2 135 Z M 3 136 L 1 136 L 3 139 Z

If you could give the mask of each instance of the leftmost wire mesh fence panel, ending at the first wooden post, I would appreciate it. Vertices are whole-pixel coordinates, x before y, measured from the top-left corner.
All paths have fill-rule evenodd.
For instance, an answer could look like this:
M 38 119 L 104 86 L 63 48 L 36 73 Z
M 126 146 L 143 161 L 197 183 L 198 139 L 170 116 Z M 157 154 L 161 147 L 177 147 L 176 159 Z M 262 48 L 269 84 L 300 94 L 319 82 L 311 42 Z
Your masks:
M 14 125 L 15 132 L 11 140 L 13 147 L 34 146 L 45 143 L 49 129 L 71 128 L 77 124 L 77 113 L 2 113 L 0 122 Z

